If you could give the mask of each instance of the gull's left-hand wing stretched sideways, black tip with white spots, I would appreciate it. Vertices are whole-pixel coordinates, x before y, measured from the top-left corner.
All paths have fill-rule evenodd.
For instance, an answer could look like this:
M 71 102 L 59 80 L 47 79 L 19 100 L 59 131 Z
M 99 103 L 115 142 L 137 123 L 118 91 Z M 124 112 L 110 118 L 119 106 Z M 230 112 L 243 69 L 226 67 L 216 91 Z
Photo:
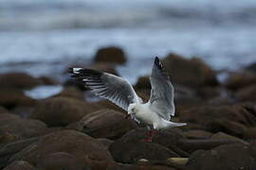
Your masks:
M 85 68 L 70 68 L 69 73 L 92 93 L 112 101 L 123 110 L 128 110 L 131 103 L 142 103 L 132 85 L 119 76 Z

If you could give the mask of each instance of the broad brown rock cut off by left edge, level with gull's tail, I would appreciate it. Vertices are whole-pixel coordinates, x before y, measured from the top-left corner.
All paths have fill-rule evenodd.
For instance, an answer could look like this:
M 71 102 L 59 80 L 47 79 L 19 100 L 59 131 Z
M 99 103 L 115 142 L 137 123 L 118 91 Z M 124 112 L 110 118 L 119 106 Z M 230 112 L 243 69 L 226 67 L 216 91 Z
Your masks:
M 0 116 L 0 129 L 17 139 L 30 138 L 46 134 L 46 124 L 39 120 L 22 119 L 10 113 L 3 113 Z

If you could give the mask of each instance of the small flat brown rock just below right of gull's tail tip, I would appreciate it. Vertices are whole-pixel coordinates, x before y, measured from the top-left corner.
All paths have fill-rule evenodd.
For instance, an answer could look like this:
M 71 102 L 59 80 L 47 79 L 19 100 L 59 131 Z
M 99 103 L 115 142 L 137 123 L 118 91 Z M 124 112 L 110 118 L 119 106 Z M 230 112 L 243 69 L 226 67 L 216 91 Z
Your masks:
M 206 130 L 191 129 L 184 131 L 183 135 L 188 139 L 209 139 L 212 133 Z

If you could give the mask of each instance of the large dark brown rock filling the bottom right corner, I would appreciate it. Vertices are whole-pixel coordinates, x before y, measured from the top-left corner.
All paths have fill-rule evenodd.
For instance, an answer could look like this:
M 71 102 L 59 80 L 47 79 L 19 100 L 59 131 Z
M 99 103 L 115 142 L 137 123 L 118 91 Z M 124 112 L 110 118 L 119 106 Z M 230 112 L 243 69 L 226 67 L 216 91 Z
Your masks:
M 193 153 L 186 169 L 231 170 L 254 169 L 255 167 L 256 161 L 250 154 L 248 145 L 223 144 L 210 151 L 197 151 Z

